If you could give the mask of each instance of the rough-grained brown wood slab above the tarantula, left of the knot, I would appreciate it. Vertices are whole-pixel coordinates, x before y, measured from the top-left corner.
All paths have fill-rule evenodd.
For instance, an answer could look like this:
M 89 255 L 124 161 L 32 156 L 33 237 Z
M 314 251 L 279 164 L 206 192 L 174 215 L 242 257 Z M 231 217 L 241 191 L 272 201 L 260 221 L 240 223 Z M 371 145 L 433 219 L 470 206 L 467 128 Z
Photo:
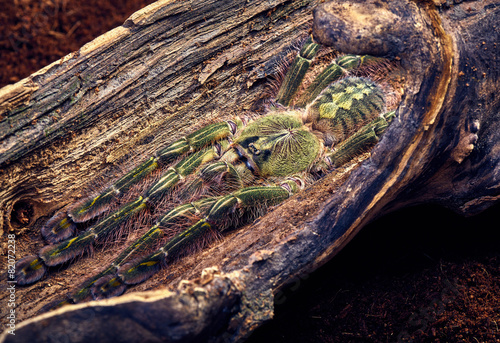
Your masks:
M 200 122 L 250 110 L 276 52 L 310 30 L 307 11 L 309 1 L 159 1 L 3 88 L 0 228 L 20 226 L 16 203 L 30 208 L 32 224 L 92 180 L 119 175 L 117 165 L 130 168 Z

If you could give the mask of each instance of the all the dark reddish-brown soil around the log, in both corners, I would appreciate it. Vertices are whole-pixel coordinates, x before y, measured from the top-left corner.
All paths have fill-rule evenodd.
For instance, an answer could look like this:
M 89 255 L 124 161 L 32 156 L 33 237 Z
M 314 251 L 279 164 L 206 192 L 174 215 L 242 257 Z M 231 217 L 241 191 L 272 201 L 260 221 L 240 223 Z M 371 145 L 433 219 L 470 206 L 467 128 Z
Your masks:
M 0 86 L 122 24 L 152 0 L 0 0 Z M 366 227 L 276 297 L 251 342 L 500 342 L 499 206 L 420 206 Z

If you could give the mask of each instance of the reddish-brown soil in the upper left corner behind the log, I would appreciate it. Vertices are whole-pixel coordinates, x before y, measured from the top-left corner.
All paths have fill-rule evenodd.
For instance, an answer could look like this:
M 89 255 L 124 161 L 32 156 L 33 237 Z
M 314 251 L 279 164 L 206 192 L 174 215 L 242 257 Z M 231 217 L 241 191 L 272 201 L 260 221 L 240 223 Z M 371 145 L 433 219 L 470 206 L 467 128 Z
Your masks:
M 154 0 L 0 0 L 0 87 L 77 51 Z

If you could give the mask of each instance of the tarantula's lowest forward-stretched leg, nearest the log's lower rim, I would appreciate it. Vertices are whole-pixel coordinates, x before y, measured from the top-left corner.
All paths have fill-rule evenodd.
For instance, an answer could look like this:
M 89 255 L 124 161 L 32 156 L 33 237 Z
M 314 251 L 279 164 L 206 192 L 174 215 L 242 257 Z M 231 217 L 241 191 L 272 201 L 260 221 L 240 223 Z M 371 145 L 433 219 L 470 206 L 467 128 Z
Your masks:
M 141 283 L 156 273 L 168 259 L 175 258 L 185 251 L 186 247 L 205 232 L 217 227 L 220 231 L 230 226 L 228 217 L 251 214 L 259 206 L 277 205 L 299 189 L 302 181 L 294 179 L 284 181 L 280 186 L 254 186 L 240 189 L 229 195 L 216 199 L 205 218 L 200 219 L 185 231 L 174 236 L 163 247 L 138 262 L 125 264 L 116 277 L 109 279 L 101 286 L 103 294 L 118 295 L 124 290 L 123 285 Z M 215 200 L 207 198 L 205 201 Z M 240 210 L 242 213 L 237 213 Z M 118 281 L 120 280 L 120 281 Z M 113 290 L 113 288 L 115 288 Z

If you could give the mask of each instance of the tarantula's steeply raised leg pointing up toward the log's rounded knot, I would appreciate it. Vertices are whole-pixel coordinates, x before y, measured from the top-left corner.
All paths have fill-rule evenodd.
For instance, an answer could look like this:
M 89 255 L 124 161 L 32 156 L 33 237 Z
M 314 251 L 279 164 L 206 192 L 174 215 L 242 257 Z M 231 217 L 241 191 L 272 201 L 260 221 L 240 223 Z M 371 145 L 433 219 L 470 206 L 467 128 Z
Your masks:
M 276 96 L 277 103 L 282 104 L 283 106 L 288 106 L 290 104 L 290 101 L 302 83 L 302 79 L 304 78 L 307 69 L 309 69 L 311 61 L 314 56 L 316 56 L 319 48 L 320 45 L 314 43 L 311 37 L 307 39 L 285 75 L 283 84 L 281 85 L 278 95 Z

